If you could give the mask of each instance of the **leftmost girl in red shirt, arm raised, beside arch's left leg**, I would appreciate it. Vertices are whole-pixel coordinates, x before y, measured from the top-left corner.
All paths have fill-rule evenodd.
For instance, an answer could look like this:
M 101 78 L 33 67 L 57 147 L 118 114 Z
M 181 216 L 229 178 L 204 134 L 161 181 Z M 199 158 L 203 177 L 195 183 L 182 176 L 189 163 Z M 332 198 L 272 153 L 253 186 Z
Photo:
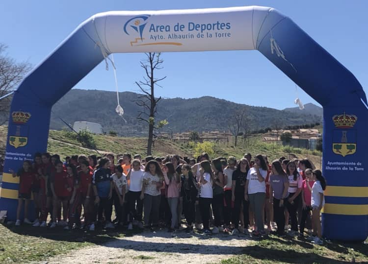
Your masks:
M 32 192 L 32 183 L 34 180 L 34 173 L 32 171 L 32 163 L 30 161 L 24 161 L 23 168 L 21 168 L 17 174 L 15 174 L 14 170 L 10 169 L 11 174 L 13 177 L 20 177 L 19 183 L 19 194 L 18 194 L 18 208 L 17 208 L 17 221 L 15 222 L 16 226 L 21 225 L 20 214 L 23 206 L 23 201 L 25 203 L 24 208 L 24 223 L 31 224 L 28 220 L 28 205 L 29 200 L 31 198 Z

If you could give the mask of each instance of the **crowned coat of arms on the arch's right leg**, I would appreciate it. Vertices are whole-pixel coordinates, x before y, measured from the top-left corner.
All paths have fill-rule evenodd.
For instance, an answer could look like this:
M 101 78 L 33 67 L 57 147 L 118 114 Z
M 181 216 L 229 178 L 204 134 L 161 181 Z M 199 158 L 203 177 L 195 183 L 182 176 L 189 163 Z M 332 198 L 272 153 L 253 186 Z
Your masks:
M 355 115 L 335 115 L 332 117 L 335 127 L 333 131 L 332 150 L 337 155 L 345 157 L 352 155 L 357 149 L 357 131 L 352 129 L 358 120 Z

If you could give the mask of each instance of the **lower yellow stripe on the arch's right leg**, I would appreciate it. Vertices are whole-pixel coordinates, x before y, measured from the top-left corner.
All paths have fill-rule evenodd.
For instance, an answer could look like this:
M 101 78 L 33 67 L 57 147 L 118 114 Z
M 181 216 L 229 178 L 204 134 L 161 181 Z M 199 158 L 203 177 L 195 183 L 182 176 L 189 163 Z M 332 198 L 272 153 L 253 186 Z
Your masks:
M 366 216 L 368 215 L 368 204 L 326 203 L 322 208 L 322 213 L 345 216 Z

